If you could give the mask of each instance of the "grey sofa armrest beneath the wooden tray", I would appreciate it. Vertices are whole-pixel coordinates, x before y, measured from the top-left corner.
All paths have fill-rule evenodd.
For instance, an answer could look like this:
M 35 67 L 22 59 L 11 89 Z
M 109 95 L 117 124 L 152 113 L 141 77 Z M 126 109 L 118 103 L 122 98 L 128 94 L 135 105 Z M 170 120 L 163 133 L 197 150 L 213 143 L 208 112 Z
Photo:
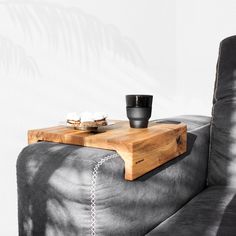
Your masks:
M 96 235 L 148 233 L 206 185 L 210 118 L 172 120 L 181 119 L 188 124 L 187 153 L 133 182 L 124 180 L 118 155 L 106 160 L 112 151 L 48 142 L 26 147 L 17 162 L 20 236 L 90 235 L 92 223 Z

